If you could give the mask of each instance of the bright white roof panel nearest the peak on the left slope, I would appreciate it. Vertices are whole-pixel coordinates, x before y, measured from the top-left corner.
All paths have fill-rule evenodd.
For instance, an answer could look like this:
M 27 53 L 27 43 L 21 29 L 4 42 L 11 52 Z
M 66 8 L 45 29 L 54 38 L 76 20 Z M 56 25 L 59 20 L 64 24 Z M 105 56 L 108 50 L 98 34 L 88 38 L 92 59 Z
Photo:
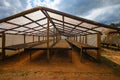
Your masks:
M 33 13 L 27 14 L 27 17 L 29 17 L 30 19 L 36 21 L 39 19 L 42 19 L 45 17 L 45 15 L 39 10 L 39 11 L 35 11 Z

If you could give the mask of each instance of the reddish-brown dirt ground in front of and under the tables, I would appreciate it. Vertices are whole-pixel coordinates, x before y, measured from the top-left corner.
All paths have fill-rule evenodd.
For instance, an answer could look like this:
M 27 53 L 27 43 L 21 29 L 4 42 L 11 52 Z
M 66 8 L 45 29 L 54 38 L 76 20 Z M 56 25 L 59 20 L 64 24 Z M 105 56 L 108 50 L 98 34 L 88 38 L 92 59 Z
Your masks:
M 72 62 L 68 51 L 57 51 L 48 63 L 41 50 L 32 54 L 32 60 L 23 53 L 0 62 L 0 80 L 120 80 L 120 75 L 104 63 L 80 62 L 74 50 Z

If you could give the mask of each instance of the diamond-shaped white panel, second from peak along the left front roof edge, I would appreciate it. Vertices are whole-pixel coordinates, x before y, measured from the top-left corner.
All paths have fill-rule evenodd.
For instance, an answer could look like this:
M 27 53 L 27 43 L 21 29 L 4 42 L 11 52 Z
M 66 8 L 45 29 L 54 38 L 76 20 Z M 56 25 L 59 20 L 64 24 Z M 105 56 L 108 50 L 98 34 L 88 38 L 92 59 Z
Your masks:
M 24 25 L 24 24 L 27 24 L 31 21 L 29 19 L 21 16 L 21 17 L 18 17 L 18 18 L 11 19 L 8 22 L 15 23 L 15 24 L 18 24 L 18 25 Z

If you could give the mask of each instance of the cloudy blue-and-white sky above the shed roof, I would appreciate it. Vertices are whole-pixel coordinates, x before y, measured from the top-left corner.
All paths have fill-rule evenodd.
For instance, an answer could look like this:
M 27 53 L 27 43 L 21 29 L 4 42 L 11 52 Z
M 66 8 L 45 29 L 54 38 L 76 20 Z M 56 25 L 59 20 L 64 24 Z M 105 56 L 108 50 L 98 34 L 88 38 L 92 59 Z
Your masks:
M 104 24 L 120 22 L 120 0 L 0 0 L 0 19 L 45 6 Z

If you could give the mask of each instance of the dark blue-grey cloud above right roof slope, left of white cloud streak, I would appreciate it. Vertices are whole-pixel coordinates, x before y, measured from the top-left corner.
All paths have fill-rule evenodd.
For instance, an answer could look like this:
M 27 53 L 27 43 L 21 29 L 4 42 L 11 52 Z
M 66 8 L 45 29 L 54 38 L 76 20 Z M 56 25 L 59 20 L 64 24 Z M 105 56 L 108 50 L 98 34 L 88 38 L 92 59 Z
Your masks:
M 74 15 L 87 15 L 89 11 L 101 7 L 120 4 L 120 0 L 62 0 L 59 9 Z

